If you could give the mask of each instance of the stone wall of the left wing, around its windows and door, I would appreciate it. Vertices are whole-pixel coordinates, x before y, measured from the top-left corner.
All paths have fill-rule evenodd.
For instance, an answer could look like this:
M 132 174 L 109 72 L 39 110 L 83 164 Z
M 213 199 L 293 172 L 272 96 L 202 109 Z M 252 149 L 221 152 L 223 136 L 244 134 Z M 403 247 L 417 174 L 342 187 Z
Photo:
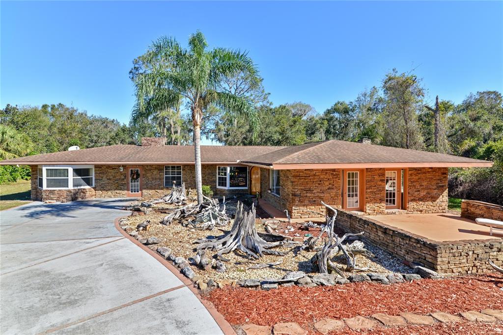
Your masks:
M 119 171 L 118 165 L 95 165 L 95 187 L 74 190 L 41 190 L 38 188 L 38 168 L 31 166 L 31 199 L 38 201 L 55 200 L 60 202 L 89 198 L 123 198 L 126 197 L 127 169 Z M 169 192 L 170 187 L 164 187 L 164 165 L 141 165 L 143 197 L 158 197 Z M 216 188 L 217 165 L 202 165 L 203 185 L 209 185 L 215 195 L 229 196 L 247 194 L 249 190 L 225 190 Z M 195 166 L 182 165 L 182 181 L 187 189 L 194 189 Z

